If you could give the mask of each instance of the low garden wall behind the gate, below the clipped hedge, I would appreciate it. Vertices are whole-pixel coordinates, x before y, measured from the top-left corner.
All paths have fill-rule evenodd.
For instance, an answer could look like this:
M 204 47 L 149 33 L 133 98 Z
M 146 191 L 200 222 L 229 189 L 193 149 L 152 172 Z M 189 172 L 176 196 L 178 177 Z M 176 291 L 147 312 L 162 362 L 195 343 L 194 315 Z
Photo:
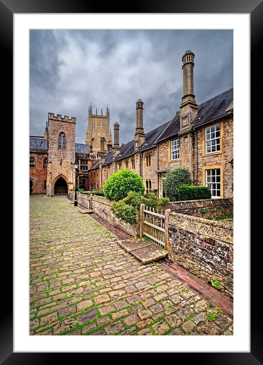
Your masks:
M 186 214 L 206 219 L 215 219 L 226 213 L 233 213 L 233 199 L 202 199 L 170 202 L 166 209 L 172 212 Z M 202 211 L 205 208 L 205 211 Z

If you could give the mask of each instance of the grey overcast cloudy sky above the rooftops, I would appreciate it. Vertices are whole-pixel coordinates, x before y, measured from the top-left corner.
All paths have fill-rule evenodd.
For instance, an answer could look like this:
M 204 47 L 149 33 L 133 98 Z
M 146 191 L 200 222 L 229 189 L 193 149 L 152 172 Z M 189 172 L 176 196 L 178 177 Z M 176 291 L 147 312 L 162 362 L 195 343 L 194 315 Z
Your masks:
M 233 86 L 233 32 L 30 31 L 30 134 L 43 136 L 47 113 L 77 118 L 76 143 L 85 143 L 87 109 L 110 108 L 119 142 L 134 138 L 135 102 L 144 101 L 149 132 L 171 120 L 182 98 L 182 55 L 195 53 L 198 104 Z

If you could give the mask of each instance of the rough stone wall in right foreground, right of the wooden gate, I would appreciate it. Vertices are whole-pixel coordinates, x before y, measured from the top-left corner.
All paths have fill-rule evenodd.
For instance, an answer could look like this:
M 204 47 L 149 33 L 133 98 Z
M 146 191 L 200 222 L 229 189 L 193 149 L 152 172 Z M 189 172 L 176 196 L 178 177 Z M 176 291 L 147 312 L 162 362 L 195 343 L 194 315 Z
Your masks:
M 233 297 L 233 224 L 171 213 L 168 254 L 176 264 L 206 282 L 216 277 Z

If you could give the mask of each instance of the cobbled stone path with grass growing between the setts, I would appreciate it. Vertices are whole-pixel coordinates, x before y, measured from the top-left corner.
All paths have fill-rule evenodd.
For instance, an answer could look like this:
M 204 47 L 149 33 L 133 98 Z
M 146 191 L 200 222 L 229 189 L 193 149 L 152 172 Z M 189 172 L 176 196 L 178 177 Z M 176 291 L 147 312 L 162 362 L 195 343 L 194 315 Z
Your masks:
M 118 240 L 67 198 L 30 197 L 30 334 L 233 334 L 221 308 Z

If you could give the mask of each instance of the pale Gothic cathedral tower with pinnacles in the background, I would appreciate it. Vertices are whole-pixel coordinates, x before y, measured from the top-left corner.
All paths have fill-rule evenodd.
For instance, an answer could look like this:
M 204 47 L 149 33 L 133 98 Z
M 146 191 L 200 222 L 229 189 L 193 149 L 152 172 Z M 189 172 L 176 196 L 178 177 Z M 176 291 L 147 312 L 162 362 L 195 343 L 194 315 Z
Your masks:
M 107 144 L 111 144 L 111 131 L 110 131 L 110 111 L 107 107 L 106 115 L 96 113 L 92 114 L 92 106 L 88 108 L 88 127 L 86 132 L 86 145 L 89 146 L 91 138 L 94 138 L 92 147 L 95 156 L 98 157 L 101 149 L 101 137 L 106 139 Z

